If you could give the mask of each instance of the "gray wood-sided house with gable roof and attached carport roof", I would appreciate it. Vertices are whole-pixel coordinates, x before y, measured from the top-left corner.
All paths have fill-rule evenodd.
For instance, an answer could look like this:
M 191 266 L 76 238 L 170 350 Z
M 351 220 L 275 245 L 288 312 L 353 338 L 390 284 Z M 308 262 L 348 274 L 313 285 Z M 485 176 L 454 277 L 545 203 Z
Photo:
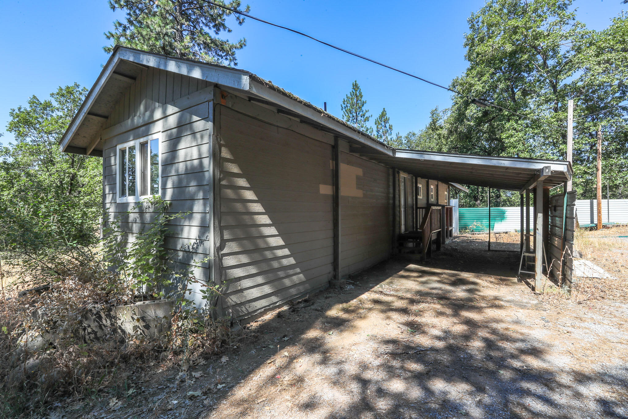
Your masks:
M 399 247 L 429 253 L 452 234 L 456 182 L 543 191 L 571 178 L 565 161 L 395 150 L 250 72 L 121 46 L 60 146 L 102 156 L 109 220 L 151 195 L 187 212 L 166 246 L 225 283 L 219 310 L 237 319 Z M 122 227 L 133 237 L 152 217 L 136 209 Z

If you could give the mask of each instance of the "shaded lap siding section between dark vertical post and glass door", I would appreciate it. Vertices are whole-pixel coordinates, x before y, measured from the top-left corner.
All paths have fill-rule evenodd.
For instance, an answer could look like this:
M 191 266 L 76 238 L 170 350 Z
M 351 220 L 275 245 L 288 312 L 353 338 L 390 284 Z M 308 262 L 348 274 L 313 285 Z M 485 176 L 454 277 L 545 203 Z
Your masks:
M 349 275 L 390 256 L 391 171 L 371 161 L 341 153 L 340 162 L 362 170 L 355 187 L 362 197 L 340 189 L 340 275 Z M 341 172 L 342 175 L 342 172 Z

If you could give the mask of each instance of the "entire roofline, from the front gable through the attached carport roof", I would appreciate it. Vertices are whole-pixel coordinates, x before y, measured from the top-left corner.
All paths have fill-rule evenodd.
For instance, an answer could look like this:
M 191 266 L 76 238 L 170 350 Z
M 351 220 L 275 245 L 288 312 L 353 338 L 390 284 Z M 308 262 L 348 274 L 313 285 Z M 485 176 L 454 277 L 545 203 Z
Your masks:
M 539 177 L 549 187 L 561 185 L 571 178 L 571 164 L 566 161 L 398 150 L 251 72 L 122 46 L 114 48 L 70 122 L 60 142 L 61 150 L 102 156 L 99 133 L 105 121 L 127 87 L 147 67 L 207 80 L 215 87 L 249 101 L 272 106 L 278 113 L 348 141 L 352 153 L 418 177 L 508 190 L 530 187 Z

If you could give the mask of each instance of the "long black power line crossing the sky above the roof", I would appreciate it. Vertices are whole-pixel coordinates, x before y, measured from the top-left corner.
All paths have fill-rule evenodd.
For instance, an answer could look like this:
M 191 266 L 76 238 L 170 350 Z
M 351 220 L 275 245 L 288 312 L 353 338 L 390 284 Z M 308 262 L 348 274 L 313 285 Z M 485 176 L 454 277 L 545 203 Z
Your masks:
M 431 85 L 434 85 L 434 86 L 436 86 L 436 87 L 440 87 L 441 89 L 449 90 L 449 91 L 450 91 L 450 92 L 452 92 L 452 93 L 455 93 L 455 94 L 461 95 L 462 97 L 466 97 L 466 98 L 467 98 L 467 99 L 469 99 L 469 100 L 470 100 L 473 104 L 475 104 L 475 105 L 477 105 L 477 106 L 480 106 L 480 107 L 492 106 L 492 107 L 495 107 L 495 108 L 497 108 L 497 109 L 501 109 L 502 111 L 510 112 L 511 114 L 514 114 L 514 115 L 517 115 L 517 116 L 521 116 L 521 117 L 523 117 L 523 118 L 525 118 L 525 119 L 536 120 L 536 121 L 538 121 L 538 122 L 541 122 L 541 124 L 545 124 L 545 125 L 547 125 L 547 126 L 551 126 L 551 127 L 553 127 L 553 128 L 558 128 L 558 129 L 566 129 L 566 127 L 560 127 L 560 126 L 556 126 L 556 125 L 553 125 L 553 124 L 548 124 L 547 122 L 541 121 L 541 119 L 539 119 L 539 118 L 537 118 L 537 117 L 530 117 L 530 116 L 526 116 L 526 115 L 524 115 L 524 114 L 520 114 L 519 112 L 516 112 L 516 111 L 511 111 L 511 109 L 507 109 L 507 108 L 505 108 L 505 107 L 499 106 L 499 105 L 494 104 L 493 102 L 490 102 L 490 101 L 480 101 L 479 99 L 476 99 L 475 97 L 470 97 L 470 96 L 469 96 L 469 95 L 467 95 L 467 94 L 464 94 L 464 93 L 462 93 L 462 92 L 458 92 L 458 90 L 450 89 L 449 87 L 443 86 L 443 85 L 438 84 L 438 83 L 435 83 L 435 82 L 430 82 L 430 80 L 423 79 L 423 77 L 419 77 L 418 75 L 414 75 L 414 74 L 412 74 L 412 73 L 408 73 L 408 72 L 406 72 L 406 71 L 404 71 L 404 70 L 399 70 L 399 68 L 391 67 L 390 65 L 387 65 L 387 64 L 381 63 L 381 62 L 376 61 L 376 60 L 372 60 L 371 58 L 364 57 L 364 55 L 360 55 L 360 54 L 357 54 L 357 53 L 355 53 L 355 52 L 351 52 L 351 51 L 349 51 L 349 50 L 345 50 L 344 48 L 340 48 L 340 46 L 335 46 L 335 45 L 330 44 L 330 43 L 328 43 L 328 42 L 325 42 L 325 41 L 319 40 L 319 39 L 317 39 L 317 38 L 314 38 L 313 36 L 307 35 L 306 33 L 303 33 L 303 32 L 300 32 L 300 31 L 297 31 L 297 30 L 295 30 L 295 29 L 288 28 L 288 27 L 286 27 L 286 26 L 281 26 L 280 24 L 272 23 L 272 22 L 266 21 L 266 20 L 264 20 L 264 19 L 256 18 L 255 16 L 252 16 L 251 14 L 244 13 L 244 12 L 242 12 L 242 11 L 239 11 L 239 10 L 236 10 L 236 9 L 229 8 L 229 7 L 227 7 L 227 6 L 224 6 L 224 4 L 214 3 L 214 2 L 213 2 L 213 1 L 211 1 L 211 0 L 203 0 L 203 1 L 205 1 L 205 3 L 213 4 L 214 6 L 219 7 L 219 8 L 221 8 L 221 9 L 229 10 L 229 11 L 231 11 L 232 13 L 241 14 L 242 16 L 246 16 L 246 17 L 247 17 L 247 18 L 249 18 L 249 19 L 253 19 L 253 20 L 258 21 L 258 22 L 261 22 L 261 23 L 266 23 L 266 24 L 269 24 L 269 25 L 271 25 L 271 26 L 274 26 L 275 28 L 280 28 L 280 29 L 283 29 L 283 30 L 286 30 L 286 31 L 290 31 L 290 32 L 296 33 L 297 35 L 305 36 L 306 38 L 309 38 L 309 39 L 311 39 L 311 40 L 313 40 L 313 41 L 316 41 L 316 42 L 318 42 L 318 43 L 322 43 L 323 45 L 327 45 L 327 46 L 329 46 L 330 48 L 333 48 L 333 49 L 335 49 L 335 50 L 338 50 L 338 51 L 341 51 L 341 52 L 347 53 L 347 54 L 349 54 L 349 55 L 353 55 L 354 57 L 357 57 L 357 58 L 362 58 L 362 60 L 366 60 L 366 61 L 368 61 L 368 62 L 371 62 L 371 63 L 377 64 L 377 65 L 381 65 L 382 67 L 386 67 L 386 68 L 389 68 L 390 70 L 393 70 L 393 71 L 396 71 L 396 72 L 399 72 L 399 73 L 402 73 L 402 74 L 408 75 L 408 76 L 410 76 L 410 77 L 413 77 L 414 79 L 418 79 L 418 80 L 421 80 L 422 82 L 426 82 L 426 83 L 431 84 Z

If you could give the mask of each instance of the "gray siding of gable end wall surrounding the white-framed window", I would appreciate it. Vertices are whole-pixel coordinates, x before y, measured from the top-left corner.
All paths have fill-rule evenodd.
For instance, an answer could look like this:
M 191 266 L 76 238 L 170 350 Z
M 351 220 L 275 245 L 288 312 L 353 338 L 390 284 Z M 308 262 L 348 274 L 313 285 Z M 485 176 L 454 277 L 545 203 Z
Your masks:
M 163 77 L 161 75 L 163 73 Z M 210 150 L 212 141 L 212 93 L 198 94 L 191 99 L 180 99 L 187 95 L 190 85 L 195 90 L 206 87 L 202 83 L 190 82 L 189 77 L 174 77 L 158 69 L 145 70 L 138 81 L 129 89 L 124 101 L 119 102 L 110 117 L 108 128 L 130 117 L 143 117 L 143 124 L 132 129 L 119 129 L 121 134 L 104 141 L 103 152 L 103 207 L 107 220 L 120 219 L 121 229 L 126 232 L 127 242 L 154 221 L 155 213 L 137 208 L 134 202 L 118 203 L 116 196 L 117 156 L 116 146 L 126 141 L 158 133 L 161 147 L 161 197 L 170 202 L 168 214 L 187 213 L 170 220 L 169 234 L 165 247 L 180 264 L 193 267 L 198 280 L 208 281 L 211 262 L 198 262 L 209 256 L 210 246 Z M 175 80 L 178 84 L 175 84 Z M 202 81 L 202 80 L 200 80 Z M 183 89 L 182 85 L 186 84 Z M 131 94 L 130 92 L 133 92 Z M 155 99 L 155 100 L 153 100 Z M 168 112 L 166 117 L 151 120 L 151 111 L 169 103 L 181 106 L 179 111 Z M 125 122 L 127 123 L 127 122 Z M 136 207 L 134 209 L 134 207 Z M 127 212 L 131 211 L 130 214 Z M 195 262 L 195 260 L 197 262 Z M 183 267 L 183 265 L 180 265 Z M 190 298 L 197 305 L 203 302 L 197 293 L 200 285 L 194 285 Z

